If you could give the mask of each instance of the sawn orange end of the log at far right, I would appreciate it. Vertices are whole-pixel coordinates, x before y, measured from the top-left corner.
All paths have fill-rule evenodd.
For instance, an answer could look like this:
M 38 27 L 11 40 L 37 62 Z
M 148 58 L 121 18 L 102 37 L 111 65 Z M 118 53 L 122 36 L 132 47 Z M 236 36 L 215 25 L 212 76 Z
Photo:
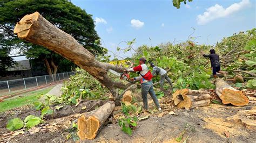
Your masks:
M 249 103 L 249 99 L 239 90 L 224 89 L 220 96 L 223 104 L 232 104 L 234 106 L 244 106 Z

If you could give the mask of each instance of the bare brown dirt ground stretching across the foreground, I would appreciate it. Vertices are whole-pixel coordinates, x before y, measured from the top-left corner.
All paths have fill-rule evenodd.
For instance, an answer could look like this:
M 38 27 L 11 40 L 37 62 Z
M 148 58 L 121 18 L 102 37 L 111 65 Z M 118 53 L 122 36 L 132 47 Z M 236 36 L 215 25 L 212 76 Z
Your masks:
M 218 97 L 213 95 L 213 99 Z M 149 103 L 153 109 L 153 102 Z M 178 137 L 180 142 L 256 142 L 256 126 L 228 120 L 238 112 L 255 111 L 255 102 L 239 107 L 211 103 L 210 106 L 184 110 L 173 106 L 170 97 L 164 97 L 160 99 L 160 104 L 162 111 L 141 115 L 149 118 L 139 121 L 131 137 L 117 123 L 107 121 L 94 140 L 76 140 L 76 132 L 71 128 L 72 121 L 80 116 L 76 114 L 46 121 L 31 130 L 10 132 L 0 128 L 0 142 L 177 142 Z M 178 115 L 169 115 L 170 111 Z M 256 112 L 250 117 L 246 113 L 242 116 L 250 119 L 252 124 L 256 121 Z M 6 135 L 8 133 L 11 135 Z

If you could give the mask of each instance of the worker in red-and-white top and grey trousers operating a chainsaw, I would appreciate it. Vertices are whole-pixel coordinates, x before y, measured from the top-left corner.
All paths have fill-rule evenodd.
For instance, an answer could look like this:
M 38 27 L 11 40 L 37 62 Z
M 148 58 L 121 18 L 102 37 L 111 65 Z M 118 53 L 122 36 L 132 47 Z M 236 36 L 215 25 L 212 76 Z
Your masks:
M 153 82 L 152 82 L 152 74 L 145 64 L 146 58 L 142 57 L 139 59 L 139 66 L 125 69 L 124 72 L 130 72 L 130 71 L 139 71 L 139 76 L 131 78 L 131 81 L 140 81 L 140 84 L 142 84 L 142 98 L 143 98 L 143 108 L 144 110 L 147 110 L 147 93 L 150 94 L 152 97 L 154 104 L 156 104 L 158 110 L 160 111 L 160 104 L 158 102 L 157 96 L 153 89 Z

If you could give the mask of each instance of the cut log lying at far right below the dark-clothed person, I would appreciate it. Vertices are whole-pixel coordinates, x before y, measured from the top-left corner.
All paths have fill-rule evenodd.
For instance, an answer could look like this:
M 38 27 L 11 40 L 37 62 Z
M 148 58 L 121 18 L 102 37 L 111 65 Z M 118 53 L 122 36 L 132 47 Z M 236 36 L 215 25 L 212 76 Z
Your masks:
M 235 106 L 244 106 L 249 103 L 247 96 L 242 91 L 232 88 L 223 79 L 215 80 L 215 92 L 220 97 L 223 104 L 232 104 Z

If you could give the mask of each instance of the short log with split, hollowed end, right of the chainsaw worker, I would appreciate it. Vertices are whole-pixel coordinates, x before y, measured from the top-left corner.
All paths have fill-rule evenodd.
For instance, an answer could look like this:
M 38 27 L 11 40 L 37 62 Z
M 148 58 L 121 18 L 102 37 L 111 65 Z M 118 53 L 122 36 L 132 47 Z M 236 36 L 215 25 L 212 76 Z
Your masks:
M 210 105 L 210 98 L 211 96 L 205 90 L 181 89 L 172 95 L 174 105 L 187 110 Z

